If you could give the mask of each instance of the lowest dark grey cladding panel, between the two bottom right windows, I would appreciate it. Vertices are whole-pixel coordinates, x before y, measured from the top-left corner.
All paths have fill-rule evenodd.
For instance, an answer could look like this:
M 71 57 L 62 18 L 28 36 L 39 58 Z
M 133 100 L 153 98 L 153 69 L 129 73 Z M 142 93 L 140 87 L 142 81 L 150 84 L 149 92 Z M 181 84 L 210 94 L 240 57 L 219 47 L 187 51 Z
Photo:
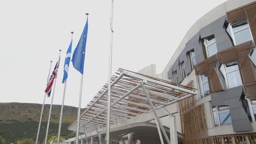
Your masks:
M 230 113 L 231 115 L 231 113 Z M 250 120 L 247 119 L 239 119 L 239 120 L 232 120 L 232 126 L 234 132 L 245 132 L 245 131 L 252 131 L 252 125 Z

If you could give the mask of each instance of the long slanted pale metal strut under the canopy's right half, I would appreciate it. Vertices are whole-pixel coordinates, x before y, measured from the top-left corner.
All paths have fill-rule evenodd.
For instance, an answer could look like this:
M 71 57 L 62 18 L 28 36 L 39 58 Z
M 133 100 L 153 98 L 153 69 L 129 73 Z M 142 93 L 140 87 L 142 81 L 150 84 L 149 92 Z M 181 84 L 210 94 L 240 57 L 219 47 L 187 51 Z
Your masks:
M 146 82 L 147 82 L 147 81 L 141 81 L 141 82 L 140 82 L 140 85 L 141 85 L 141 87 L 142 87 L 142 89 L 143 89 L 143 91 L 144 91 L 144 93 L 145 93 L 145 95 L 146 95 L 146 97 L 147 97 L 147 99 L 148 99 L 148 102 L 149 102 L 149 104 L 150 104 L 150 107 L 152 108 L 152 111 L 154 112 L 155 118 L 156 118 L 157 122 L 159 123 L 159 126 L 160 126 L 160 128 L 161 128 L 161 130 L 162 130 L 162 132 L 163 132 L 163 135 L 164 135 L 165 140 L 167 141 L 168 144 L 171 144 L 171 143 L 170 143 L 170 140 L 169 140 L 169 138 L 168 138 L 168 135 L 166 134 L 166 132 L 165 132 L 165 130 L 164 130 L 164 128 L 163 128 L 163 125 L 162 125 L 162 123 L 160 122 L 159 117 L 157 116 L 157 113 L 156 113 L 156 111 L 155 111 L 155 107 L 154 107 L 152 101 L 150 100 L 150 97 L 149 97 L 149 95 L 148 95 L 148 93 L 147 93 L 147 90 L 146 90 L 146 88 L 145 88 L 145 86 L 144 86 L 144 83 L 146 83 Z

